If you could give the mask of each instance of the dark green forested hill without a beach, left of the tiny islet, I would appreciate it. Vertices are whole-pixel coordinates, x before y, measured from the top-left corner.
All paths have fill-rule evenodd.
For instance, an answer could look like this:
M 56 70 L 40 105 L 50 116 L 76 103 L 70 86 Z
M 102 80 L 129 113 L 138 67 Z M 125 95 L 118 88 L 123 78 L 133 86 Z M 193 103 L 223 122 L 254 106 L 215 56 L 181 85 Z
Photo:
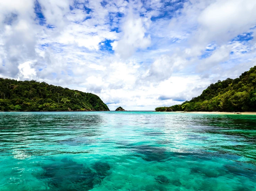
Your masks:
M 0 78 L 0 111 L 109 111 L 92 93 L 45 82 Z

